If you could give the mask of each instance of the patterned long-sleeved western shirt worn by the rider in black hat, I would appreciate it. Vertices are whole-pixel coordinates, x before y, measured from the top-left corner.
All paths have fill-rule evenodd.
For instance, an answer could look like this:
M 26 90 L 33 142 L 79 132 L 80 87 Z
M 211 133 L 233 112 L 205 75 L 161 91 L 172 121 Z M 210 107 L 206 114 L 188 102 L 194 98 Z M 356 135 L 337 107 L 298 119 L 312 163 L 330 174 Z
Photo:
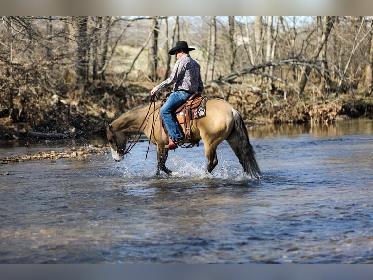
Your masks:
M 162 90 L 172 84 L 175 84 L 174 91 L 186 90 L 202 93 L 204 84 L 201 80 L 201 66 L 189 54 L 176 61 L 171 76 L 157 85 L 157 89 Z

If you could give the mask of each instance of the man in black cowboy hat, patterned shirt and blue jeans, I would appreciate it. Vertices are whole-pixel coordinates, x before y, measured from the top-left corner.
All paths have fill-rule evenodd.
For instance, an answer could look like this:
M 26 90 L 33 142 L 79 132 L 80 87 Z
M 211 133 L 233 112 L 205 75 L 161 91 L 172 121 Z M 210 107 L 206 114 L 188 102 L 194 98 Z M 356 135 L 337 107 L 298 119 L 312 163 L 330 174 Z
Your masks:
M 165 104 L 161 108 L 161 116 L 168 131 L 168 145 L 166 148 L 174 150 L 178 145 L 184 144 L 183 131 L 174 116 L 174 111 L 184 104 L 194 93 L 202 93 L 204 85 L 201 80 L 201 66 L 193 60 L 189 51 L 195 50 L 189 48 L 186 41 L 179 41 L 168 54 L 176 55 L 176 63 L 168 79 L 161 82 L 151 90 L 151 95 L 156 92 L 174 85 L 173 92 L 170 94 Z

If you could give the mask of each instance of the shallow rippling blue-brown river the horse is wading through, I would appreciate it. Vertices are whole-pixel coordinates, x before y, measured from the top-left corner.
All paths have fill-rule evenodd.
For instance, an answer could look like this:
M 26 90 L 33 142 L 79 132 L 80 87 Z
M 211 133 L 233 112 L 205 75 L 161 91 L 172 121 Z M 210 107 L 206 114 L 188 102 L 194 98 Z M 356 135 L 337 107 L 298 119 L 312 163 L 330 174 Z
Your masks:
M 250 128 L 264 178 L 228 144 L 207 174 L 203 145 L 139 142 L 116 163 L 0 165 L 0 263 L 373 263 L 373 122 Z M 0 147 L 0 157 L 62 144 Z

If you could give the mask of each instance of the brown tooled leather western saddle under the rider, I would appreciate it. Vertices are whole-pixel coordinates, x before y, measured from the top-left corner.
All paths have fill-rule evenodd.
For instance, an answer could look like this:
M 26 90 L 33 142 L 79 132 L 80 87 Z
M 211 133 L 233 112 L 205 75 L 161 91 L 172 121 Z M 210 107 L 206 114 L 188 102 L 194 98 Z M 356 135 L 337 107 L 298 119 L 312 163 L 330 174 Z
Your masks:
M 162 102 L 162 105 L 166 102 L 168 95 Z M 180 125 L 184 126 L 185 132 L 185 143 L 189 143 L 188 145 L 183 145 L 184 148 L 191 148 L 194 145 L 199 145 L 199 140 L 196 141 L 191 136 L 191 126 L 192 120 L 199 119 L 206 116 L 206 102 L 210 98 L 207 96 L 202 96 L 200 93 L 193 94 L 183 105 L 175 110 L 176 119 Z M 165 125 L 163 124 L 162 118 L 160 118 L 161 127 L 165 130 L 166 134 L 168 134 Z M 162 129 L 160 138 L 162 139 Z

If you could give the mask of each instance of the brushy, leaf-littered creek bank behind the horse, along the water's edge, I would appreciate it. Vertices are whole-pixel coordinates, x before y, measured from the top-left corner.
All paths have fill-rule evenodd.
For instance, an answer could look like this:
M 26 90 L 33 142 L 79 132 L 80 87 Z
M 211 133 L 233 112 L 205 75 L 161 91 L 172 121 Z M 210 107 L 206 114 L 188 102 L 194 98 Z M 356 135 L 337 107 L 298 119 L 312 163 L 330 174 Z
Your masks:
M 17 121 L 12 117 L 14 112 L 0 115 L 0 141 L 90 135 L 105 137 L 104 121 L 111 121 L 130 108 L 149 102 L 151 88 L 150 83 L 130 84 L 126 88 L 97 83 L 89 88 L 88 93 L 84 93 L 84 98 L 76 91 L 54 94 L 49 101 L 45 101 L 47 105 L 40 108 L 39 113 L 26 112 L 24 109 L 16 118 Z M 166 93 L 161 93 L 160 98 Z M 328 124 L 347 118 L 373 117 L 373 102 L 367 102 L 363 96 L 355 96 L 354 100 L 341 96 L 330 96 L 329 100 L 301 100 L 288 94 L 285 99 L 278 92 L 267 96 L 260 91 L 247 91 L 247 87 L 239 85 L 206 86 L 204 95 L 227 100 L 250 126 L 271 123 Z

